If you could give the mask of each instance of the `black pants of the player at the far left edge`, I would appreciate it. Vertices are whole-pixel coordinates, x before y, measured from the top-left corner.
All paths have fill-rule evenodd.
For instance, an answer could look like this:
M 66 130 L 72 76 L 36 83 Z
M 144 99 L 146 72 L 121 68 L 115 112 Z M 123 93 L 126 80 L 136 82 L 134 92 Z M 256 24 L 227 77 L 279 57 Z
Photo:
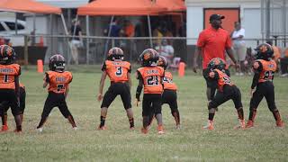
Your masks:
M 19 115 L 19 104 L 14 89 L 0 89 L 0 112 L 4 113 L 5 109 L 11 106 L 13 115 Z

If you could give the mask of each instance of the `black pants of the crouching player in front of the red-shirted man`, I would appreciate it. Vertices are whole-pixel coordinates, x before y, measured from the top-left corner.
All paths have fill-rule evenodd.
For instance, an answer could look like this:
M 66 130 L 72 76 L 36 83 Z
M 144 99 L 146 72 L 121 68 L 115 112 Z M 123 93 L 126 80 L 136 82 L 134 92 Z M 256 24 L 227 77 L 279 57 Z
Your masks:
M 209 103 L 208 108 L 216 108 L 229 99 L 233 101 L 236 109 L 243 107 L 241 93 L 238 87 L 236 85 L 224 85 L 223 92 L 217 91 L 217 94 Z

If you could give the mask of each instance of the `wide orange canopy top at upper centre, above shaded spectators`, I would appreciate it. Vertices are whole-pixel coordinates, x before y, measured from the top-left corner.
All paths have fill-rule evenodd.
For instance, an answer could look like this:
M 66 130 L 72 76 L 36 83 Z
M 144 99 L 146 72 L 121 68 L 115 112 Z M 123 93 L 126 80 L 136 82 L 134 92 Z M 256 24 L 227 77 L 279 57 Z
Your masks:
M 96 0 L 78 7 L 79 15 L 151 15 L 165 12 L 166 7 L 150 0 Z

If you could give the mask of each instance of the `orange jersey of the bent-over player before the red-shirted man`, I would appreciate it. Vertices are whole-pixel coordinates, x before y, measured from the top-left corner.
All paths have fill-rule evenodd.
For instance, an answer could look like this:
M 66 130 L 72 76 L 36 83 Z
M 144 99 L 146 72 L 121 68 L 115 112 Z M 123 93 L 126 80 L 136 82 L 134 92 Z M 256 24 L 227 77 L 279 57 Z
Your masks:
M 230 77 L 219 69 L 214 69 L 213 71 L 211 71 L 209 76 L 211 78 L 217 79 L 217 86 L 220 92 L 223 91 L 224 85 L 233 85 L 230 81 Z

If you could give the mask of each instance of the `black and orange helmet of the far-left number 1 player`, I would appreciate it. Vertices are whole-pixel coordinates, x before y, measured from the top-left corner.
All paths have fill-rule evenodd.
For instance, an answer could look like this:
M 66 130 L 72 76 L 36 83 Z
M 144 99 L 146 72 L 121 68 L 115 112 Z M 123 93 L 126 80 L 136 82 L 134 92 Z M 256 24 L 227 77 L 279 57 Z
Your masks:
M 15 51 L 8 45 L 0 46 L 0 64 L 12 64 L 16 58 Z

